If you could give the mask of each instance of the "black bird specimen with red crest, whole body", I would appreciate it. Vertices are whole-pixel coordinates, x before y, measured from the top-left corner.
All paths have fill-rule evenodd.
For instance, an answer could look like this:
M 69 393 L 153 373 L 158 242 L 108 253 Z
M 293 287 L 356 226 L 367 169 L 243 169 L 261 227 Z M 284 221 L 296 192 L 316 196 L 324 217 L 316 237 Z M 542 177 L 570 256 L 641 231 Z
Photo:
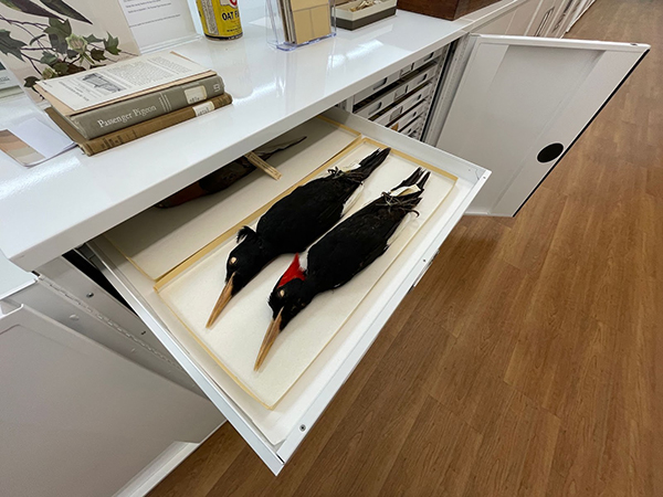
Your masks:
M 272 324 L 255 360 L 255 371 L 278 334 L 317 294 L 345 285 L 389 248 L 406 215 L 415 212 L 429 177 L 430 172 L 417 169 L 393 190 L 339 223 L 308 250 L 306 269 L 295 255 L 270 295 Z

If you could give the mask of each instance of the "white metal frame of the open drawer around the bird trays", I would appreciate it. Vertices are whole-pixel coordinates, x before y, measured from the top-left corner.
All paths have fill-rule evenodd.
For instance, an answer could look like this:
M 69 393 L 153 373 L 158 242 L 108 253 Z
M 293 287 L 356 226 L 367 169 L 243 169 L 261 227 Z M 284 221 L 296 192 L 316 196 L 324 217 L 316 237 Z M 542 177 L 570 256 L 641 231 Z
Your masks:
M 155 281 L 106 236 L 98 236 L 88 244 L 94 253 L 93 262 L 275 474 L 291 458 L 401 299 L 423 275 L 440 245 L 490 176 L 490 171 L 481 167 L 345 110 L 333 108 L 324 117 L 457 179 L 440 207 L 418 229 L 351 316 L 273 409 L 257 402 L 219 367 L 161 300 L 155 289 Z M 307 175 L 319 166 L 311 165 Z M 277 183 L 273 182 L 273 197 L 278 194 Z M 249 198 L 252 188 L 249 184 L 242 194 Z M 261 195 L 265 198 L 264 192 Z M 238 219 L 236 223 L 244 221 Z

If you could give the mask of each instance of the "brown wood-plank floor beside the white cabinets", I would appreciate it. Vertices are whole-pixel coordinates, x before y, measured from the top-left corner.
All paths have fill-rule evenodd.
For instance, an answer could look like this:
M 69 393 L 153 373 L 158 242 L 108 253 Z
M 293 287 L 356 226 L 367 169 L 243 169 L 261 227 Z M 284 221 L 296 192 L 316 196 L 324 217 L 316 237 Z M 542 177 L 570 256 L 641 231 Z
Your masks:
M 663 1 L 570 36 L 653 49 L 517 219 L 463 219 L 281 476 L 225 424 L 152 496 L 663 496 Z

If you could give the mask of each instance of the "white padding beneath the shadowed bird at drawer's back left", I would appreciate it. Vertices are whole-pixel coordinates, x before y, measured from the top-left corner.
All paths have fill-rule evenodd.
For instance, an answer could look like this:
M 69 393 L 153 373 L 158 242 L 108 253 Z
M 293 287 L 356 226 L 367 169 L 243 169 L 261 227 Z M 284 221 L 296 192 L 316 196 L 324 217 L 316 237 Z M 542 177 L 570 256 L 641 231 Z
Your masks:
M 157 281 L 208 243 L 232 229 L 349 145 L 357 134 L 324 119 L 311 119 L 273 142 L 307 138 L 274 154 L 269 163 L 283 177 L 276 181 L 256 170 L 230 188 L 170 209 L 147 209 L 107 231 L 105 236 L 125 257 Z M 319 147 L 324 140 L 325 147 Z M 246 187 L 251 195 L 246 195 Z

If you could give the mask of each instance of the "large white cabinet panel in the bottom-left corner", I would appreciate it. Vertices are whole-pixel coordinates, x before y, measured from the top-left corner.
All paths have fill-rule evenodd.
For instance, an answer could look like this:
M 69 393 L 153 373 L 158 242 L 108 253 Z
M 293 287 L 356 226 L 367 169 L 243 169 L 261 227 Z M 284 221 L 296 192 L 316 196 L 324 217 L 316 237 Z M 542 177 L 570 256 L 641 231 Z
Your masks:
M 159 457 L 171 469 L 222 422 L 207 399 L 1 302 L 0 396 L 1 493 L 13 497 L 141 495 L 137 472 Z

